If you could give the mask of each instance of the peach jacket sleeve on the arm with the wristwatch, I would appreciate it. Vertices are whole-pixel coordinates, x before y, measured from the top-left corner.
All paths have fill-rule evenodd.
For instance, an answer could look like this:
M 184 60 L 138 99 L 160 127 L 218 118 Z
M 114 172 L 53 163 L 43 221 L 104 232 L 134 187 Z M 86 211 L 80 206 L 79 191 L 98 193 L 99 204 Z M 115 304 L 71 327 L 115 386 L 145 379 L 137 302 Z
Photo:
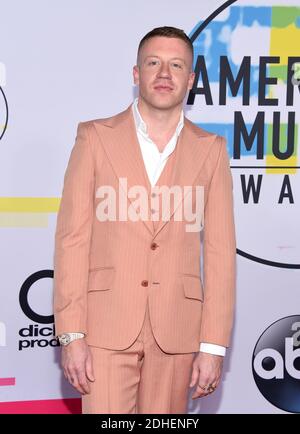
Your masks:
M 78 124 L 57 215 L 53 298 L 56 335 L 87 333 L 87 280 L 95 183 L 88 128 L 87 122 Z

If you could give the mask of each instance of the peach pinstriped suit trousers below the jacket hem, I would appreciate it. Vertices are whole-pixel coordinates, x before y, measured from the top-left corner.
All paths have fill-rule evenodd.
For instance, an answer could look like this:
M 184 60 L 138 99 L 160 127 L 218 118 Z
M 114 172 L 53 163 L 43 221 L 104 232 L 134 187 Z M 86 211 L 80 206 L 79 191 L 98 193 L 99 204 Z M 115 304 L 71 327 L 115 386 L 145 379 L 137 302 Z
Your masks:
M 165 353 L 152 332 L 149 305 L 141 331 L 124 350 L 90 346 L 95 381 L 83 414 L 184 414 L 195 353 Z

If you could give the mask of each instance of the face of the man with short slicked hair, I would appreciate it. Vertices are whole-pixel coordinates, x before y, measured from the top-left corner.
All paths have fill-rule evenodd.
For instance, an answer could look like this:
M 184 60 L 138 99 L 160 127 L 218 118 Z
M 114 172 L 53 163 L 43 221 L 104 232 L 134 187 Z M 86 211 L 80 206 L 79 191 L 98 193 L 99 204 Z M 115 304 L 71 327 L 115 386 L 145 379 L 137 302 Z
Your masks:
M 176 107 L 193 85 L 192 54 L 181 39 L 155 36 L 141 48 L 133 77 L 147 104 L 162 110 Z

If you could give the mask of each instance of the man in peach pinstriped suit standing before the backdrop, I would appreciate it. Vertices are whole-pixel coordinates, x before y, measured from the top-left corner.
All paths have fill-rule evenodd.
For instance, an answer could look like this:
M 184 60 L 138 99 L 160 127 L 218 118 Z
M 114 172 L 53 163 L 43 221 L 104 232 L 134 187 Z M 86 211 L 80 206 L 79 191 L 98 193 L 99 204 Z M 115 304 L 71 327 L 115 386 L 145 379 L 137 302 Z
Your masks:
M 133 68 L 138 98 L 78 126 L 54 315 L 83 413 L 186 413 L 189 387 L 198 398 L 220 382 L 235 301 L 233 183 L 225 139 L 183 114 L 192 65 L 182 30 L 152 30 Z

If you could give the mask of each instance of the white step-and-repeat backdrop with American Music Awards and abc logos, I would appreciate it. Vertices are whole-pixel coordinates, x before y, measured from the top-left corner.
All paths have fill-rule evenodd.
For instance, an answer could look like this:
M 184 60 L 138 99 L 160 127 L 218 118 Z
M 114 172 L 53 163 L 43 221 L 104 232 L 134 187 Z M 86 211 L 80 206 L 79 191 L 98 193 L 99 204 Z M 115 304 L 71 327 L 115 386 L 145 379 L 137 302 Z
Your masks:
M 299 0 L 12 0 L 0 25 L 0 413 L 80 413 L 53 324 L 53 250 L 78 122 L 137 95 L 140 39 L 190 36 L 186 116 L 227 139 L 237 305 L 222 383 L 189 413 L 300 413 Z

